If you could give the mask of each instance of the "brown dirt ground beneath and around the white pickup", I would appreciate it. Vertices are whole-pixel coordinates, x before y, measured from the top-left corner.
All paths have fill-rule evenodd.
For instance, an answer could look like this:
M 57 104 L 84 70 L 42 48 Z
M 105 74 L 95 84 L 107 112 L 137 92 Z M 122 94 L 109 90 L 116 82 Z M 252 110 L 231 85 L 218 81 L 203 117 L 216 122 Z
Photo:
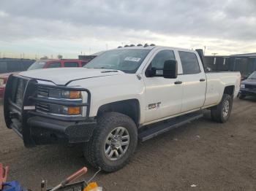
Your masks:
M 89 179 L 96 170 L 83 158 L 81 147 L 42 146 L 26 149 L 5 127 L 0 106 L 0 162 L 10 166 L 9 180 L 39 190 L 84 165 Z M 138 144 L 132 161 L 116 173 L 100 173 L 103 190 L 256 190 L 256 98 L 234 101 L 225 124 L 205 117 Z M 195 184 L 196 187 L 191 187 Z

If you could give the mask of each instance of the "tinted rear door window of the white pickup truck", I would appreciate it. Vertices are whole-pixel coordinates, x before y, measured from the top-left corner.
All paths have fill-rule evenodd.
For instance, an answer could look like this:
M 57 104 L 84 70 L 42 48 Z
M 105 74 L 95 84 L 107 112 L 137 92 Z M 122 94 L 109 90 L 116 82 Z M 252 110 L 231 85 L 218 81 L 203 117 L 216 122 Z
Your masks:
M 200 73 L 200 67 L 199 67 L 199 63 L 195 53 L 178 51 L 178 55 L 181 58 L 181 66 L 183 69 L 183 74 Z

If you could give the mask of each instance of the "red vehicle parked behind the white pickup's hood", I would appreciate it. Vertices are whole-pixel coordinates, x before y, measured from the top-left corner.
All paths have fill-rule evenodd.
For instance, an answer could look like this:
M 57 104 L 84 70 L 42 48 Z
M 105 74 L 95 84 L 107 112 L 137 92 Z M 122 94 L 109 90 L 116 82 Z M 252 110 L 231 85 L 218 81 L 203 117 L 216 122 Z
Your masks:
M 61 59 L 61 60 L 39 60 L 35 61 L 29 70 L 34 69 L 52 69 L 52 68 L 67 68 L 67 67 L 83 67 L 89 61 L 78 59 Z M 0 98 L 4 96 L 5 85 L 10 74 L 18 74 L 18 72 L 10 72 L 0 75 Z

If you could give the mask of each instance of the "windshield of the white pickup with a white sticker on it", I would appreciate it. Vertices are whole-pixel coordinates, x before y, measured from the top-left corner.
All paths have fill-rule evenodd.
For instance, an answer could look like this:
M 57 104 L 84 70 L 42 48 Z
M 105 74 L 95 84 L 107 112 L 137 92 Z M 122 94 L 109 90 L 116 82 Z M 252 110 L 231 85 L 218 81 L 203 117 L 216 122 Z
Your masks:
M 84 66 L 87 69 L 116 69 L 135 73 L 150 50 L 108 50 Z

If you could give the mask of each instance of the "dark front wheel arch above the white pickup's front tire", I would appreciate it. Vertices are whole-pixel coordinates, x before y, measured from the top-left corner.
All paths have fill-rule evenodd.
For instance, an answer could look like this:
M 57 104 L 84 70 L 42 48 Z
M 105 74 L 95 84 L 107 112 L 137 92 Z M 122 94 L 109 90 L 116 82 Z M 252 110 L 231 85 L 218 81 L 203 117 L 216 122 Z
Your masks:
M 132 118 L 137 126 L 140 124 L 140 102 L 136 98 L 110 102 L 99 106 L 99 109 L 97 110 L 97 117 L 105 112 L 126 114 Z

